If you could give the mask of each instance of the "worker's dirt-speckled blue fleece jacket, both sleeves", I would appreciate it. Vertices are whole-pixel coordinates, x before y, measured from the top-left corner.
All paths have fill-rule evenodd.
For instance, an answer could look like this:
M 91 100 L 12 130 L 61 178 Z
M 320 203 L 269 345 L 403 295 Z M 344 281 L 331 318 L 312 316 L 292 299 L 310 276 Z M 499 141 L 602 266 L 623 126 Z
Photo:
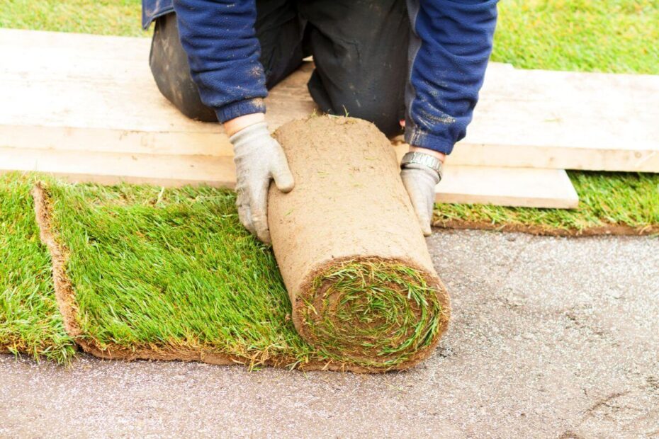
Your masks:
M 497 0 L 407 0 L 405 141 L 450 154 L 465 137 L 492 50 Z M 264 112 L 254 0 L 142 0 L 142 25 L 176 11 L 202 101 L 224 122 Z

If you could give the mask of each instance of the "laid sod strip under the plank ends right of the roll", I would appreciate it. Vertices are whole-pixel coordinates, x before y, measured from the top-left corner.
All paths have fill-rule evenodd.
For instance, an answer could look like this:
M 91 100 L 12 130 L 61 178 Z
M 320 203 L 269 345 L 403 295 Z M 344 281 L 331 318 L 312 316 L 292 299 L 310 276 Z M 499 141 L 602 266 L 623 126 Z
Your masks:
M 435 206 L 434 225 L 554 236 L 659 234 L 659 175 L 569 171 L 579 207 L 573 210 L 492 205 Z

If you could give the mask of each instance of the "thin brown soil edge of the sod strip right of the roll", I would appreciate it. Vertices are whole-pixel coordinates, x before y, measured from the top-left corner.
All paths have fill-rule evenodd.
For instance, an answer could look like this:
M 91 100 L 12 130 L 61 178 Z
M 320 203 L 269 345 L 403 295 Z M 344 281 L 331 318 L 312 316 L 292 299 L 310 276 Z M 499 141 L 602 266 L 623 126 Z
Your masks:
M 659 234 L 659 224 L 631 227 L 626 224 L 607 224 L 585 229 L 560 229 L 558 227 L 533 224 L 492 224 L 486 221 L 439 220 L 433 227 L 442 229 L 495 230 L 497 232 L 519 232 L 536 236 L 565 236 L 570 238 L 588 236 L 652 236 Z

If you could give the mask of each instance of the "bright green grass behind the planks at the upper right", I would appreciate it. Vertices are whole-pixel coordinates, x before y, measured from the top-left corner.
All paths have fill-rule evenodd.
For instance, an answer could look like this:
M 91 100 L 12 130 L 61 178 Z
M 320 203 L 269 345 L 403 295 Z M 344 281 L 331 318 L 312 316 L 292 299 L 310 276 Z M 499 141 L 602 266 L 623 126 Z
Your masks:
M 502 0 L 492 59 L 524 69 L 659 74 L 657 0 Z

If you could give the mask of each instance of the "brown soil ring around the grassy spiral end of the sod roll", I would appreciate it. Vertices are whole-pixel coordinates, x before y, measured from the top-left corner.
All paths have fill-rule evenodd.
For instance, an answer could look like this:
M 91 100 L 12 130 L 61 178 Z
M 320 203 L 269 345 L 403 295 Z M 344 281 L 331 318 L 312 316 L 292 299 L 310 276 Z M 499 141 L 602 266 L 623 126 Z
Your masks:
M 410 358 L 405 360 L 405 362 L 391 366 L 384 371 L 409 369 L 410 367 L 414 367 L 419 363 L 421 363 L 426 358 L 428 358 L 429 355 L 435 350 L 435 348 L 439 344 L 439 340 L 446 332 L 446 329 L 449 328 L 449 320 L 451 319 L 451 300 L 449 297 L 449 293 L 446 290 L 446 286 L 444 286 L 444 283 L 439 278 L 439 275 L 434 273 L 434 270 L 430 272 L 429 270 L 427 270 L 427 268 L 420 266 L 418 263 L 408 258 L 374 258 L 373 256 L 364 257 L 363 255 L 350 255 L 350 256 L 343 256 L 342 258 L 334 258 L 331 260 L 320 261 L 316 263 L 315 266 L 311 270 L 309 270 L 308 275 L 306 275 L 305 278 L 303 278 L 303 280 L 300 282 L 298 291 L 295 293 L 295 304 L 293 305 L 293 312 L 292 312 L 292 319 L 293 319 L 293 324 L 295 325 L 295 330 L 298 331 L 300 336 L 304 338 L 305 341 L 307 341 L 313 346 L 314 338 L 312 334 L 308 331 L 308 327 L 303 323 L 302 319 L 300 318 L 300 312 L 298 312 L 298 309 L 305 306 L 304 300 L 305 298 L 309 297 L 310 292 L 312 291 L 313 280 L 317 278 L 318 275 L 322 275 L 322 273 L 325 273 L 327 270 L 332 270 L 333 267 L 340 266 L 342 263 L 351 262 L 351 261 L 387 262 L 387 263 L 400 264 L 403 266 L 410 267 L 419 273 L 422 273 L 423 278 L 426 281 L 427 285 L 432 287 L 433 290 L 436 292 L 437 300 L 439 300 L 439 304 L 441 305 L 441 317 L 439 320 L 439 327 L 433 337 L 432 343 L 430 343 L 429 346 L 421 350 L 417 350 L 417 352 L 410 355 Z M 373 368 L 373 372 L 378 372 L 378 371 L 382 371 L 382 369 Z

